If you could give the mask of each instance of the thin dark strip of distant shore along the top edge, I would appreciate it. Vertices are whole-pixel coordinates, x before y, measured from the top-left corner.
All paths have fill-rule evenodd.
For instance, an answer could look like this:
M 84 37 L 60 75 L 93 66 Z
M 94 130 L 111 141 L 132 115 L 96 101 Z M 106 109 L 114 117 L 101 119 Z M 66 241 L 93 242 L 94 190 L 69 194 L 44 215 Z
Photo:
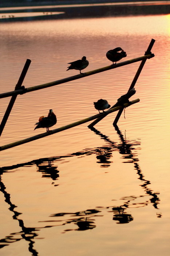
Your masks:
M 155 0 L 149 0 L 155 1 Z M 39 0 L 27 0 L 27 1 L 6 1 L 1 0 L 0 8 L 3 7 L 27 7 L 27 6 L 41 6 L 41 5 L 72 5 L 72 4 L 97 4 L 97 3 L 127 3 L 127 2 L 148 2 L 147 0 L 57 0 L 57 1 L 39 1 Z M 170 0 L 159 0 L 159 2 L 170 2 Z

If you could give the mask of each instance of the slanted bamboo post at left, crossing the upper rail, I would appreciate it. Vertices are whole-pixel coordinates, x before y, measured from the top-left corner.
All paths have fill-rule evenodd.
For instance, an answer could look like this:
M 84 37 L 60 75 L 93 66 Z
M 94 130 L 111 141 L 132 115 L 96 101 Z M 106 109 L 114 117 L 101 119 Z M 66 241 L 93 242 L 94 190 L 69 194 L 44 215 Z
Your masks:
M 30 63 L 31 63 L 31 60 L 27 59 L 26 62 L 25 62 L 23 71 L 21 72 L 20 78 L 19 78 L 19 80 L 18 80 L 18 82 L 17 82 L 17 84 L 15 86 L 15 91 L 21 88 L 21 85 L 23 83 L 25 75 L 27 74 L 27 71 L 28 71 Z M 0 136 L 1 136 L 2 132 L 3 132 L 5 124 L 7 123 L 9 114 L 11 113 L 11 110 L 12 110 L 13 104 L 15 103 L 16 97 L 17 97 L 17 94 L 12 95 L 11 100 L 9 101 L 7 110 L 6 110 L 6 112 L 4 114 L 4 117 L 3 117 L 3 120 L 1 121 L 1 124 L 0 124 Z

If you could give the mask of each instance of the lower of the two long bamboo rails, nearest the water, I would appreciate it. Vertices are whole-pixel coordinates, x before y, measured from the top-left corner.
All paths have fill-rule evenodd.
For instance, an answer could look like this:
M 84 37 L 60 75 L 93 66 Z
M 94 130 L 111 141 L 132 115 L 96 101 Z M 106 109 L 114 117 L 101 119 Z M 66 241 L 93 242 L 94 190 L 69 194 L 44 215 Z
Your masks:
M 133 101 L 130 101 L 129 103 L 125 103 L 123 105 L 124 108 L 127 108 L 128 106 L 130 105 L 133 105 L 137 102 L 139 102 L 140 100 L 139 99 L 135 99 Z M 33 140 L 37 140 L 37 139 L 40 139 L 40 138 L 43 138 L 43 137 L 46 137 L 46 136 L 49 136 L 49 135 L 52 135 L 54 133 L 57 133 L 57 132 L 61 132 L 61 131 L 64 131 L 64 130 L 67 130 L 67 129 L 70 129 L 72 127 L 75 127 L 75 126 L 78 126 L 80 124 L 84 124 L 84 123 L 87 123 L 88 121 L 91 121 L 91 120 L 94 120 L 100 116 L 104 116 L 105 114 L 110 114 L 112 112 L 115 112 L 117 110 L 119 110 L 120 108 L 122 108 L 122 106 L 117 106 L 115 108 L 112 108 L 112 109 L 109 109 L 107 111 L 105 111 L 104 113 L 100 113 L 100 114 L 96 114 L 95 116 L 91 116 L 91 117 L 87 117 L 85 119 L 82 119 L 80 121 L 76 121 L 75 123 L 72 123 L 72 124 L 68 124 L 68 125 L 65 125 L 65 126 L 62 126 L 60 128 L 56 128 L 54 130 L 51 130 L 50 132 L 44 132 L 44 133 L 40 133 L 38 135 L 35 135 L 35 136 L 32 136 L 32 137 L 29 137 L 27 139 L 23 139 L 23 140 L 19 140 L 17 142 L 13 142 L 13 143 L 10 143 L 10 144 L 7 144 L 7 145 L 4 145 L 4 146 L 1 146 L 0 147 L 0 151 L 3 151 L 5 149 L 8 149 L 8 148 L 12 148 L 12 147 L 16 147 L 16 146 L 19 146 L 21 144 L 24 144 L 24 143 L 27 143 L 27 142 L 31 142 Z

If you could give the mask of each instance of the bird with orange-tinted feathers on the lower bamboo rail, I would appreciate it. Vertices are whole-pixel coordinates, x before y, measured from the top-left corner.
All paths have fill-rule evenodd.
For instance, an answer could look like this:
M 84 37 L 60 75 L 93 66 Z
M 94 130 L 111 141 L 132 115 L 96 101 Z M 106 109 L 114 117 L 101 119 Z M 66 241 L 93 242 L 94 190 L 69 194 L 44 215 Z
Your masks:
M 37 122 L 35 125 L 35 129 L 38 128 L 47 128 L 47 132 L 49 132 L 49 127 L 52 127 L 57 123 L 57 118 L 52 109 L 49 110 L 48 117 L 41 116 L 39 118 L 39 122 Z M 34 129 L 34 130 L 35 130 Z

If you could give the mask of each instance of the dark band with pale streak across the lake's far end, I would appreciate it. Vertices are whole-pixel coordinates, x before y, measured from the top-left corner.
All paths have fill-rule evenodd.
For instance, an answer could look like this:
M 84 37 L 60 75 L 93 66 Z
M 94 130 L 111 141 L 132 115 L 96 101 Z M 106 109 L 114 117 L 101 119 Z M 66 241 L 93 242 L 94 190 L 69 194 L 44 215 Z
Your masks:
M 154 6 L 154 8 L 153 8 Z M 0 8 L 0 20 L 28 21 L 126 15 L 169 14 L 169 1 L 44 5 Z

